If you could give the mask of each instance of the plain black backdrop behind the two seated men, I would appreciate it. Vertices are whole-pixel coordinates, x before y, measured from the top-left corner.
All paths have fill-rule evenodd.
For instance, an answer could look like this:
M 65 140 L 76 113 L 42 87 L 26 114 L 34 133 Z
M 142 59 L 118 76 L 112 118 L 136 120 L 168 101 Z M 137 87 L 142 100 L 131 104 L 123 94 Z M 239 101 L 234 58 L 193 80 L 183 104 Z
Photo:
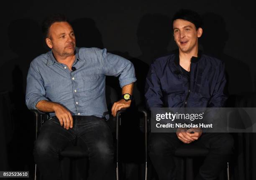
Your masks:
M 0 157 L 0 170 L 33 170 L 33 122 L 24 100 L 26 75 L 31 60 L 47 51 L 40 25 L 51 13 L 67 15 L 78 47 L 105 47 L 133 62 L 138 78 L 134 88 L 136 107 L 143 104 L 148 65 L 155 57 L 176 48 L 172 15 L 180 8 L 196 10 L 204 20 L 200 49 L 225 61 L 228 105 L 256 106 L 256 13 L 255 3 L 249 0 L 26 0 L 6 1 L 1 7 L 0 92 L 3 105 L 0 119 L 3 125 L 0 140 L 3 158 Z M 120 92 L 115 78 L 108 78 L 107 85 Z M 6 106 L 7 102 L 10 106 Z M 135 136 L 131 134 L 127 136 Z M 235 138 L 232 179 L 255 180 L 256 135 L 238 134 Z

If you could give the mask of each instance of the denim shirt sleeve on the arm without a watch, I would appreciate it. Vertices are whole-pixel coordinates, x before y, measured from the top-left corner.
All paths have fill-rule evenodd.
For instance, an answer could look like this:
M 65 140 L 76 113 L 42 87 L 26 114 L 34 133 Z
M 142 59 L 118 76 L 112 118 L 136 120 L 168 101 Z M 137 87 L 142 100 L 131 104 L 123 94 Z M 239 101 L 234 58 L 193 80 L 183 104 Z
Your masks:
M 39 101 L 48 100 L 45 95 L 43 79 L 32 61 L 28 70 L 26 87 L 26 105 L 28 109 L 37 109 L 36 104 Z

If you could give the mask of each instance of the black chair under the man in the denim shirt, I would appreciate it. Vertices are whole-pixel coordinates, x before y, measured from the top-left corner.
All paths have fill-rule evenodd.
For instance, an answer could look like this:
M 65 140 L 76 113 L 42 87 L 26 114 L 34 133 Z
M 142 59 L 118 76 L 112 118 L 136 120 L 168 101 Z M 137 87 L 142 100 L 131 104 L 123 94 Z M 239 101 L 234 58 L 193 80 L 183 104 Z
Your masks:
M 126 108 L 118 110 L 116 114 L 116 178 L 118 180 L 118 137 L 119 137 L 119 124 L 121 115 L 125 112 Z M 36 137 L 38 136 L 38 131 L 41 125 L 44 124 L 46 120 L 48 120 L 48 116 L 46 113 L 39 112 L 38 110 L 31 110 L 35 115 L 35 126 L 36 126 Z M 63 180 L 82 180 L 87 176 L 86 171 L 84 169 L 87 168 L 88 163 L 88 152 L 86 150 L 82 150 L 79 146 L 79 141 L 75 143 L 74 146 L 67 146 L 64 150 L 61 151 L 61 176 Z M 71 164 L 71 165 L 70 165 Z M 83 170 L 81 170 L 83 169 Z M 80 170 L 80 171 L 79 171 Z M 70 173 L 70 171 L 72 173 Z M 84 173 L 81 173 L 84 172 Z M 38 172 L 36 164 L 35 164 L 35 180 L 41 180 L 42 176 L 40 172 Z

